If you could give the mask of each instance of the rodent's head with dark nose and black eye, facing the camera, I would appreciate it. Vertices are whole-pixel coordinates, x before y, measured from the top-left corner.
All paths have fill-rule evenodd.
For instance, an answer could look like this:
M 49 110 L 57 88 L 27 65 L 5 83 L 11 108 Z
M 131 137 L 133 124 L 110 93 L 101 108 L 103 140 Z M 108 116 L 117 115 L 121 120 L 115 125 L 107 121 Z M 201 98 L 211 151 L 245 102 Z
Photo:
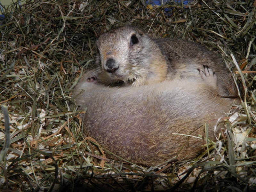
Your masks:
M 154 40 L 138 28 L 120 27 L 102 34 L 97 40 L 98 59 L 103 83 L 134 82 L 150 70 Z

